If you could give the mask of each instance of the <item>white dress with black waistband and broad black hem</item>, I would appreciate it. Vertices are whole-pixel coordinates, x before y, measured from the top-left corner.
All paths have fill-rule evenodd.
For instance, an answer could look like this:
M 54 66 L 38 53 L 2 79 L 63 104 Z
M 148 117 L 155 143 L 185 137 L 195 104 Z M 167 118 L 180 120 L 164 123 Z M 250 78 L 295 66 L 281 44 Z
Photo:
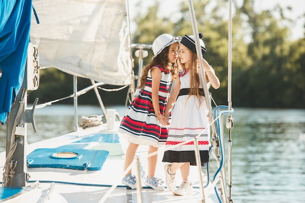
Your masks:
M 171 128 L 162 162 L 190 162 L 192 166 L 196 165 L 195 146 L 193 141 L 181 146 L 172 147 L 187 140 L 191 140 L 198 134 L 201 134 L 197 140 L 199 144 L 201 165 L 203 166 L 204 163 L 209 162 L 210 147 L 210 127 L 207 116 L 207 105 L 204 96 L 201 99 L 200 107 L 196 96 L 191 95 L 189 97 L 190 73 L 187 72 L 187 70 L 184 70 L 184 74 L 179 73 L 179 76 L 181 82 L 180 92 L 172 109 Z M 203 95 L 202 84 L 200 84 L 199 88 L 201 88 L 200 92 Z

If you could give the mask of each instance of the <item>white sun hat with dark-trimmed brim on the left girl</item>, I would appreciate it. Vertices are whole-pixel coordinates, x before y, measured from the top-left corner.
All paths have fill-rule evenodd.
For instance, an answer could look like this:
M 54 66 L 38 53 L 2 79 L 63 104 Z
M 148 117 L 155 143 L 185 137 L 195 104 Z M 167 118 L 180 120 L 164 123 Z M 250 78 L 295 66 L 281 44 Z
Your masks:
M 175 42 L 178 42 L 180 38 L 181 37 L 172 37 L 170 34 L 162 34 L 157 37 L 152 42 L 152 51 L 154 54 L 153 57 L 160 54 L 165 47 L 170 46 Z

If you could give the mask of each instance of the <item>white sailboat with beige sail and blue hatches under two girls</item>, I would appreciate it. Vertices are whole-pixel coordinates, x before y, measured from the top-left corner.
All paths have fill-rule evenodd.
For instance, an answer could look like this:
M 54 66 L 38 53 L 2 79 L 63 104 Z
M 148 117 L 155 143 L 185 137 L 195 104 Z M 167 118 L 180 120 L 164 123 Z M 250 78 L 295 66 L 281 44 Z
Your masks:
M 189 0 L 188 3 L 193 32 L 198 33 L 192 1 Z M 136 168 L 137 176 L 141 177 L 138 179 L 140 187 L 131 189 L 121 183 L 126 175 L 124 155 L 128 146 L 127 140 L 117 133 L 123 115 L 119 115 L 115 109 L 106 110 L 97 91 L 104 84 L 126 86 L 129 90 L 126 101 L 132 100 L 137 79 L 133 74 L 132 53 L 135 50 L 140 53 L 140 70 L 143 53 L 152 48 L 150 44 L 131 44 L 128 0 L 33 0 L 32 4 L 24 80 L 6 121 L 6 151 L 0 153 L 1 169 L 4 171 L 0 202 L 232 202 L 231 146 L 229 142 L 227 177 L 222 136 L 224 129 L 221 125 L 223 114 L 228 114 L 226 127 L 229 131 L 233 127 L 230 98 L 228 106 L 217 106 L 214 111 L 211 110 L 210 99 L 207 100 L 212 126 L 213 145 L 210 153 L 218 167 L 213 178 L 210 178 L 208 165 L 198 165 L 191 168 L 191 179 L 196 180 L 191 195 L 176 196 L 168 189 L 155 191 L 143 184 L 148 148 L 139 146 L 133 167 Z M 229 1 L 229 8 L 230 5 Z M 195 40 L 199 50 L 199 39 L 195 37 Z M 27 91 L 38 89 L 39 70 L 47 67 L 55 67 L 74 75 L 74 92 L 70 95 L 74 98 L 74 131 L 27 145 L 27 123 L 31 123 L 36 130 L 35 109 L 55 102 L 38 104 L 37 99 L 31 108 L 26 106 Z M 2 76 L 5 76 L 4 69 Z M 77 77 L 89 78 L 92 85 L 77 90 Z M 90 125 L 80 127 L 77 120 L 77 97 L 89 90 L 95 91 L 105 122 L 95 117 L 85 120 Z M 207 93 L 208 90 L 205 91 Z M 163 153 L 164 148 L 160 148 L 158 157 L 162 157 Z M 161 169 L 156 171 L 157 177 L 165 177 L 163 165 L 161 162 L 157 164 L 157 168 Z M 177 175 L 177 182 L 180 181 Z

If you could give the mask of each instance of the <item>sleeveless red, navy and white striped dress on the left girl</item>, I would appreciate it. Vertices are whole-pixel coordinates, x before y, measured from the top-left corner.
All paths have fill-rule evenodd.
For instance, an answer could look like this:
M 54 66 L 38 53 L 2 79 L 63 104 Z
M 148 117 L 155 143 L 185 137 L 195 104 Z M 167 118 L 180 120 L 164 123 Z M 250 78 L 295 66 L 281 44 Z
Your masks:
M 172 76 L 169 71 L 165 72 L 161 65 L 153 66 L 151 70 L 153 68 L 158 68 L 161 71 L 158 96 L 160 112 L 164 115 L 171 88 Z M 139 145 L 164 147 L 168 137 L 169 126 L 161 127 L 153 110 L 151 70 L 149 70 L 147 74 L 145 87 L 129 106 L 118 131 L 122 133 L 129 142 Z

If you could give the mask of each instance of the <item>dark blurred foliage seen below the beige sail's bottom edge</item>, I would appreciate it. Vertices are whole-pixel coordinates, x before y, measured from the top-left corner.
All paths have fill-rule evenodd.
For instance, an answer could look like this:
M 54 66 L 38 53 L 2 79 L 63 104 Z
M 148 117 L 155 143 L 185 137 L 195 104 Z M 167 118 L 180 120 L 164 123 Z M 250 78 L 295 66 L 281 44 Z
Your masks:
M 29 91 L 28 102 L 33 103 L 38 98 L 38 104 L 52 102 L 57 99 L 63 99 L 56 102 L 57 104 L 73 104 L 73 76 L 59 71 L 55 68 L 40 70 L 40 83 L 38 90 Z M 77 91 L 80 91 L 91 85 L 91 80 L 77 77 Z M 112 90 L 118 88 L 114 85 L 104 85 L 103 89 Z M 117 92 L 107 92 L 98 89 L 104 105 L 121 105 L 125 104 L 128 87 Z M 78 104 L 98 105 L 98 100 L 94 90 L 78 97 Z

